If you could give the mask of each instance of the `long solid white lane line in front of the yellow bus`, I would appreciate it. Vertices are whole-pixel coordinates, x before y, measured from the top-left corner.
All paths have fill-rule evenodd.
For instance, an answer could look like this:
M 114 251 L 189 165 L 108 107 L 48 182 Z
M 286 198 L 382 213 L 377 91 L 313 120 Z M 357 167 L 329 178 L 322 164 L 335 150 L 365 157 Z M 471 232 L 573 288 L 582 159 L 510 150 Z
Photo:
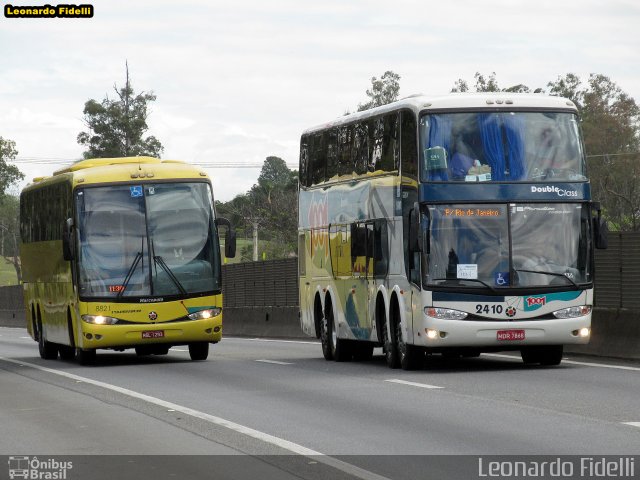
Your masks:
M 274 435 L 269 435 L 268 433 L 255 430 L 251 427 L 245 427 L 244 425 L 240 425 L 239 423 L 235 423 L 230 420 L 225 420 L 224 418 L 221 418 L 221 417 L 216 417 L 215 415 L 210 415 L 208 413 L 200 412 L 199 410 L 194 410 L 189 407 L 184 407 L 176 403 L 167 402 L 166 400 L 152 397 L 150 395 L 145 395 L 144 393 L 136 392 L 134 390 L 129 390 L 123 387 L 118 387 L 117 385 L 101 382 L 99 380 L 94 380 L 92 378 L 81 377 L 79 375 L 74 375 L 73 373 L 68 373 L 61 370 L 55 370 L 53 368 L 42 367 L 40 365 L 36 365 L 35 363 L 18 362 L 17 360 L 13 360 L 11 358 L 6 358 L 6 357 L 0 357 L 0 360 L 13 363 L 15 365 L 28 366 L 36 370 L 40 370 L 42 372 L 52 373 L 54 375 L 70 378 L 72 380 L 76 380 L 76 381 L 79 380 L 81 382 L 88 383 L 90 385 L 95 385 L 97 387 L 106 388 L 108 390 L 120 393 L 122 395 L 126 395 L 131 398 L 136 398 L 138 400 L 142 400 L 142 401 L 151 403 L 153 405 L 158 405 L 159 407 L 163 407 L 167 410 L 170 410 L 170 409 L 175 410 L 176 412 L 180 412 L 184 415 L 190 415 L 192 417 L 205 420 L 219 427 L 228 428 L 229 430 L 233 430 L 234 432 L 238 432 L 243 435 L 247 435 L 249 437 L 263 441 L 265 443 L 275 445 L 276 447 L 282 448 L 283 450 L 288 450 L 291 453 L 302 455 L 305 457 L 311 457 L 315 461 L 318 461 L 320 463 L 333 467 L 349 475 L 353 475 L 355 477 L 361 478 L 363 480 L 390 480 L 389 478 L 384 477 L 382 475 L 378 475 L 377 473 L 373 473 L 363 468 L 357 467 L 355 465 L 351 465 L 350 463 L 344 462 L 342 460 L 338 460 L 337 458 L 327 456 L 324 453 L 311 450 L 310 448 L 303 447 L 302 445 L 298 445 L 297 443 L 290 442 L 289 440 L 285 440 L 283 438 L 279 438 Z

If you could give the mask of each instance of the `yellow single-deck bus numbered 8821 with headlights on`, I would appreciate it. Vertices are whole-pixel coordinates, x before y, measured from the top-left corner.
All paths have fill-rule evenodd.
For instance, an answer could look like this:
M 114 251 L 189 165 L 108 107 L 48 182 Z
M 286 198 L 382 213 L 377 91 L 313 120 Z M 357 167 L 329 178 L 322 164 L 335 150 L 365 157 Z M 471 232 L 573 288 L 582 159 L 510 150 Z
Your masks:
M 218 230 L 201 169 L 151 157 L 82 160 L 20 195 L 27 329 L 43 359 L 95 361 L 96 350 L 206 360 L 222 338 Z

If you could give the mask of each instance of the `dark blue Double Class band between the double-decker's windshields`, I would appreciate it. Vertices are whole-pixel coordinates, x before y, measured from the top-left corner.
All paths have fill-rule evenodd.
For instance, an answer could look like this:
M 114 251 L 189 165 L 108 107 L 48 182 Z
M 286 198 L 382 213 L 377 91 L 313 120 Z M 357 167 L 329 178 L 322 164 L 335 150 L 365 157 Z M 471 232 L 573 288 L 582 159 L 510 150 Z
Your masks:
M 588 183 L 428 183 L 421 202 L 535 202 L 590 200 Z

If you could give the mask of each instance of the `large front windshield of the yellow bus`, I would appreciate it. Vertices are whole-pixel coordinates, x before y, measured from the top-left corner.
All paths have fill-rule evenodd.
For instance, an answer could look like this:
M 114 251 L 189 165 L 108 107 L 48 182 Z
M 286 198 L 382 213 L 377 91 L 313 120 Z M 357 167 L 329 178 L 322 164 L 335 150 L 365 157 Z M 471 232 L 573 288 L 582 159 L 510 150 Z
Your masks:
M 77 191 L 81 297 L 130 300 L 219 291 L 211 198 L 206 183 Z

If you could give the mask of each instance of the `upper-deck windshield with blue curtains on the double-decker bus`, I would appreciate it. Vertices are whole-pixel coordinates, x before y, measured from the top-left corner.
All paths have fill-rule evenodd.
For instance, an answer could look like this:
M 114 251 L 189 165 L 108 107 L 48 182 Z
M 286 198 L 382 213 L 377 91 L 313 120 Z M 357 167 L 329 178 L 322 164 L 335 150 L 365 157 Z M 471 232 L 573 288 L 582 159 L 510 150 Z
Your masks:
M 561 112 L 420 117 L 425 182 L 586 181 L 578 119 Z

